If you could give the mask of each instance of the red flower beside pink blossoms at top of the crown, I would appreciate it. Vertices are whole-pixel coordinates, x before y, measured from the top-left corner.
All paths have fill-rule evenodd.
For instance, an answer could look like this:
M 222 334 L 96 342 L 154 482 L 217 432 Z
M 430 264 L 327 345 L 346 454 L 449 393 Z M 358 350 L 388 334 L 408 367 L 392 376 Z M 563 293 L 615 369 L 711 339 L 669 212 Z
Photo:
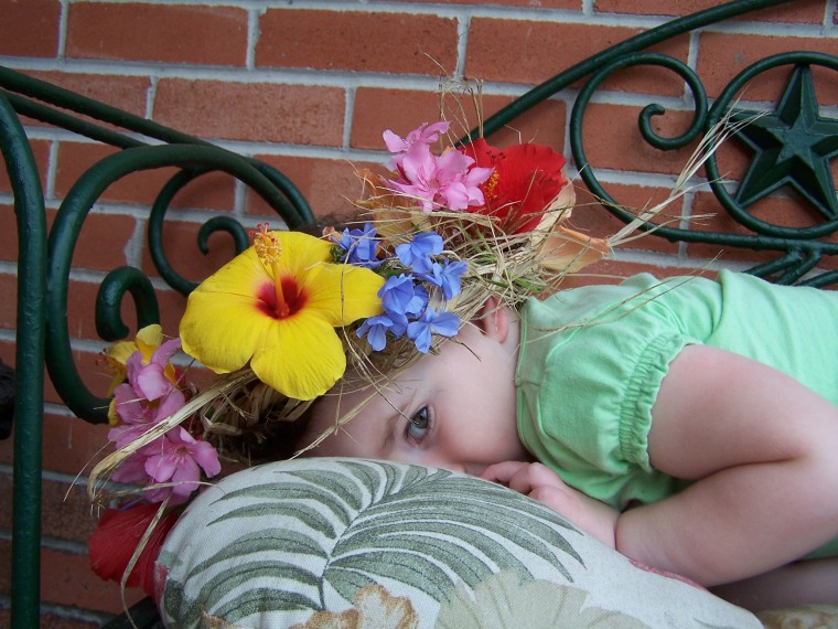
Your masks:
M 479 138 L 460 150 L 476 166 L 495 169 L 480 186 L 485 205 L 470 206 L 469 212 L 496 216 L 507 234 L 535 230 L 545 209 L 568 184 L 566 160 L 549 147 L 525 143 L 501 150 Z

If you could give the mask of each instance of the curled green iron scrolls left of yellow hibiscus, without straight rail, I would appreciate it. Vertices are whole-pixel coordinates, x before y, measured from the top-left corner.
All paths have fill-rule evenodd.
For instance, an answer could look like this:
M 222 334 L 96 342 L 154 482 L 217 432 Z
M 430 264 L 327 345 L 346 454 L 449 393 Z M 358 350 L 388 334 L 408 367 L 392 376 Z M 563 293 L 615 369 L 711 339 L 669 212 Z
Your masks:
M 185 183 L 208 171 L 223 171 L 239 179 L 262 196 L 290 226 L 310 220 L 308 205 L 289 203 L 278 189 L 276 171 L 257 167 L 256 160 L 243 158 L 213 146 L 159 145 L 125 149 L 108 156 L 88 169 L 67 193 L 55 217 L 47 247 L 46 354 L 50 376 L 67 407 L 92 423 L 107 422 L 109 399 L 95 396 L 84 384 L 73 360 L 67 329 L 67 292 L 69 270 L 84 221 L 103 192 L 114 182 L 132 172 L 164 167 L 184 169 L 173 177 L 158 196 L 149 225 L 149 241 L 161 276 L 176 290 L 189 294 L 194 287 L 171 271 L 162 254 L 162 223 L 169 202 Z M 290 182 L 288 182 L 290 185 Z M 299 194 L 299 193 L 298 193 Z M 300 199 L 302 199 L 300 196 Z M 215 231 L 233 234 L 237 250 L 246 245 L 244 227 L 234 227 L 232 218 L 218 217 L 205 224 L 198 234 L 198 246 L 206 250 L 206 238 Z M 244 238 L 244 239 L 243 239 Z M 166 269 L 165 273 L 163 269 Z M 171 280 L 171 281 L 170 281 Z M 121 302 L 131 295 L 140 327 L 159 322 L 159 307 L 153 287 L 142 271 L 123 267 L 108 274 L 97 296 L 97 331 L 106 340 L 125 338 L 128 328 L 120 316 Z

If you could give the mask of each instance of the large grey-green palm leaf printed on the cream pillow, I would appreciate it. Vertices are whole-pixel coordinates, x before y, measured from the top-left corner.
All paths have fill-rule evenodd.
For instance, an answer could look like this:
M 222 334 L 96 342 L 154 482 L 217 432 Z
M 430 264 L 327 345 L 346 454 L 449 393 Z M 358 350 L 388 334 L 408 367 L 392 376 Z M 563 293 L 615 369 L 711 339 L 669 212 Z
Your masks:
M 189 566 L 196 591 L 166 584 L 166 609 L 189 608 L 194 618 L 198 609 L 185 596 L 235 623 L 255 607 L 325 610 L 330 591 L 348 604 L 383 579 L 444 601 L 459 583 L 476 586 L 502 569 L 529 575 L 533 556 L 569 582 L 563 563 L 582 563 L 566 537 L 576 532 L 570 524 L 493 483 L 398 463 L 305 462 L 254 482 L 240 472 L 244 482 L 202 497 L 204 520 L 186 534 L 229 541 Z M 160 561 L 170 572 L 180 563 L 165 550 Z

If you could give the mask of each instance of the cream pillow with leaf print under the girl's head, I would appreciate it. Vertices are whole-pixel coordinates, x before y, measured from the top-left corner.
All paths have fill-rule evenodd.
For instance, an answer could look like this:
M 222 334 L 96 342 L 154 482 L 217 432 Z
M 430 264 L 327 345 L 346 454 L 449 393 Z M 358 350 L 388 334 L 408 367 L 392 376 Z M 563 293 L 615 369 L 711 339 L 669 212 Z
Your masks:
M 509 489 L 386 461 L 232 475 L 187 508 L 155 572 L 176 627 L 761 627 Z

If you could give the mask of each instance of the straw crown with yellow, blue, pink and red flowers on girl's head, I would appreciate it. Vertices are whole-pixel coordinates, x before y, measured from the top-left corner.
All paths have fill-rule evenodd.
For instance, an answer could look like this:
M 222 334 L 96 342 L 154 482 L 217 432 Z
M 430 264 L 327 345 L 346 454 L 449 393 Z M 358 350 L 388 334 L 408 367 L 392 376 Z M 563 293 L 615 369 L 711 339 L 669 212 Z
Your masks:
M 444 121 L 385 131 L 387 173 L 358 173 L 357 224 L 320 237 L 260 225 L 190 295 L 179 339 L 152 326 L 106 351 L 117 451 L 94 469 L 92 492 L 110 475 L 141 486 L 143 500 L 100 520 L 90 542 L 100 576 L 153 591 L 154 540 L 219 473 L 218 450 L 249 462 L 228 440 L 262 440 L 350 370 L 390 377 L 455 338 L 487 298 L 515 306 L 609 253 L 611 241 L 566 226 L 574 194 L 562 156 L 483 139 L 455 148 L 448 131 Z M 170 362 L 181 348 L 216 383 L 189 386 Z

